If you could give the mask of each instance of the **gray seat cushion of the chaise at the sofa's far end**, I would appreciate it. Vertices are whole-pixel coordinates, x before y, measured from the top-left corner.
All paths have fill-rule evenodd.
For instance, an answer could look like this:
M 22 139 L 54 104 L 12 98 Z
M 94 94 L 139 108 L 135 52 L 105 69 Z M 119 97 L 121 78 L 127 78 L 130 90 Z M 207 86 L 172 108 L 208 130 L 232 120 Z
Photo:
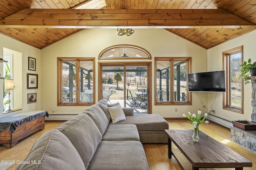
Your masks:
M 164 131 L 164 129 L 169 129 L 168 122 L 158 114 L 126 116 L 126 120 L 119 121 L 116 124 L 134 124 L 138 131 Z

